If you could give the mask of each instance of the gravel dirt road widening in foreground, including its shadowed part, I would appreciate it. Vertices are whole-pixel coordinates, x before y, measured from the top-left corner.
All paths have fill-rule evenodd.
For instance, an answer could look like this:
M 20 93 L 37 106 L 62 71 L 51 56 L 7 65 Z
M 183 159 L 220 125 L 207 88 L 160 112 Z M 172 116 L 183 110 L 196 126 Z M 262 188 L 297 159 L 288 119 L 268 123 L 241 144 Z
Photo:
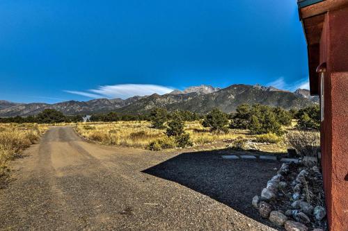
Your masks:
M 274 163 L 238 169 L 216 153 L 89 144 L 68 127 L 50 129 L 24 155 L 0 190 L 0 230 L 273 230 L 244 214 Z M 240 191 L 253 171 L 262 178 Z

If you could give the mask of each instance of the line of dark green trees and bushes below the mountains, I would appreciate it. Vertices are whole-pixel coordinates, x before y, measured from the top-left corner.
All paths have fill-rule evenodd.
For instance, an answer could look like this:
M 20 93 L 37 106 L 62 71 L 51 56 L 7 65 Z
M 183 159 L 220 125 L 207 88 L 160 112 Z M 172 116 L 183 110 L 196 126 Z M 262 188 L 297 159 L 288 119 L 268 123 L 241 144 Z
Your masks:
M 54 109 L 45 109 L 35 116 L 29 117 L 2 117 L 0 123 L 70 123 L 83 121 L 84 115 L 67 116 Z M 248 129 L 253 134 L 274 133 L 281 135 L 282 126 L 290 126 L 292 119 L 296 119 L 297 128 L 318 130 L 320 127 L 320 110 L 318 105 L 300 110 L 284 110 L 267 105 L 241 104 L 236 112 L 230 114 L 219 109 L 213 109 L 207 114 L 198 114 L 177 110 L 168 112 L 164 108 L 154 108 L 148 114 L 120 114 L 118 112 L 93 114 L 89 121 L 151 121 L 153 128 L 166 128 L 169 121 L 202 121 L 204 127 L 213 132 L 226 132 L 228 128 Z

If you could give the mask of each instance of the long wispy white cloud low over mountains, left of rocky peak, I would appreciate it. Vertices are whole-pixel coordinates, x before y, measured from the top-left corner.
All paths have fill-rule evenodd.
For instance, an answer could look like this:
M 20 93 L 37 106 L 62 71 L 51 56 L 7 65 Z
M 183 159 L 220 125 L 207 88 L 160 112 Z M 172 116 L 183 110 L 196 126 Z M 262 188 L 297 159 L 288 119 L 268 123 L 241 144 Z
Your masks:
M 132 96 L 146 96 L 150 94 L 167 94 L 172 92 L 173 88 L 164 87 L 161 85 L 150 84 L 120 84 L 120 85 L 106 85 L 97 87 L 97 89 L 89 89 L 86 92 L 65 90 L 71 94 L 79 94 L 90 98 L 121 98 L 127 99 Z

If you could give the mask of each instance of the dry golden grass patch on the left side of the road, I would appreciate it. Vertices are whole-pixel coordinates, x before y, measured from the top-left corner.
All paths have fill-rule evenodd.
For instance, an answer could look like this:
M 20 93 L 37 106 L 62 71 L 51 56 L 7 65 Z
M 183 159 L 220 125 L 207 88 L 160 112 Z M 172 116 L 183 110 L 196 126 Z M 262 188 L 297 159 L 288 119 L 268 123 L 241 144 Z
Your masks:
M 0 177 L 7 171 L 7 162 L 34 144 L 45 130 L 47 126 L 35 123 L 0 123 Z

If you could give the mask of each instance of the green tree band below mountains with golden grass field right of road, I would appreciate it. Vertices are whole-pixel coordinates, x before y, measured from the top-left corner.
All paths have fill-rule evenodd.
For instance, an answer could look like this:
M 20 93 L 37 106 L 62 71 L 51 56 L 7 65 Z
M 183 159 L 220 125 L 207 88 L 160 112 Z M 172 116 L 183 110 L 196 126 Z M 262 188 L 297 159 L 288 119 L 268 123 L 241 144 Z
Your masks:
M 153 151 L 188 146 L 210 145 L 213 148 L 219 143 L 220 146 L 224 144 L 235 149 L 248 148 L 248 144 L 251 144 L 254 148 L 258 146 L 262 151 L 274 152 L 294 148 L 302 155 L 303 151 L 295 138 L 310 140 L 313 145 L 319 143 L 318 106 L 287 111 L 265 105 L 242 104 L 236 112 L 230 114 L 219 109 L 207 114 L 196 114 L 189 111 L 168 112 L 164 108 L 155 108 L 149 114 L 125 115 L 109 112 L 93 114 L 88 123 L 80 123 L 81 120 L 81 115 L 67 117 L 51 109 L 44 110 L 35 117 L 0 118 L 2 123 L 75 122 L 77 132 L 95 142 L 148 148 Z

